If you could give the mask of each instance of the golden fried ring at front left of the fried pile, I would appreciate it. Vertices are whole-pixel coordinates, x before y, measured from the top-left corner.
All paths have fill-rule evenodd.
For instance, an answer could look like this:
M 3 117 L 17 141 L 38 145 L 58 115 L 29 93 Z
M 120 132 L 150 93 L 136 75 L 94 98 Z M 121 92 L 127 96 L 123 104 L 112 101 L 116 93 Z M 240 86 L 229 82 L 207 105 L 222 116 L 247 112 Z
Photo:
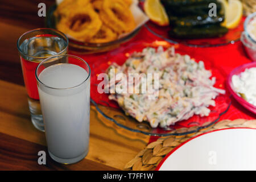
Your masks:
M 102 25 L 100 16 L 89 3 L 77 7 L 67 18 L 57 23 L 57 29 L 80 40 L 89 40 L 100 30 Z

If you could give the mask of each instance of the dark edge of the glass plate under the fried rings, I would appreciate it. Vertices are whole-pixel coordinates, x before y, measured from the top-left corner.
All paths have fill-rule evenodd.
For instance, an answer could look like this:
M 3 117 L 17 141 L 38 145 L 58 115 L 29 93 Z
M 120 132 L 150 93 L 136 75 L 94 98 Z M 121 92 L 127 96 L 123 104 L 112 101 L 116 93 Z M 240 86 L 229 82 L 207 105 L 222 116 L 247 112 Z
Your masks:
M 56 5 L 52 5 L 51 7 L 49 7 L 49 10 L 47 11 L 45 22 L 46 22 L 46 27 L 48 28 L 56 28 L 55 26 L 56 22 L 53 16 L 53 12 L 56 10 L 56 7 L 57 7 Z M 79 42 L 77 40 L 68 38 L 69 47 L 70 47 L 69 51 L 72 51 L 74 53 L 79 53 L 79 54 L 111 51 L 115 48 L 118 48 L 120 44 L 128 42 L 135 35 L 137 35 L 140 30 L 141 30 L 141 27 L 138 27 L 136 30 L 134 30 L 130 34 L 127 34 L 126 36 L 123 36 L 120 39 L 114 40 L 112 42 L 107 42 L 107 43 Z

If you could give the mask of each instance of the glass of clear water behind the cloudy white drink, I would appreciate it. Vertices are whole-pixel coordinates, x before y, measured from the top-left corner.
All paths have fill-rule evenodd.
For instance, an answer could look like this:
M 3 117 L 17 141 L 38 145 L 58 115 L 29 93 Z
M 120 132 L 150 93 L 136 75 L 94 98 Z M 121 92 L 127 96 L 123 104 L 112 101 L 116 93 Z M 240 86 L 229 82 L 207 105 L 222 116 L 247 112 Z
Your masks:
M 67 54 L 68 38 L 60 31 L 51 28 L 38 28 L 20 36 L 17 47 L 28 94 L 31 121 L 36 129 L 44 131 L 35 69 L 49 56 Z

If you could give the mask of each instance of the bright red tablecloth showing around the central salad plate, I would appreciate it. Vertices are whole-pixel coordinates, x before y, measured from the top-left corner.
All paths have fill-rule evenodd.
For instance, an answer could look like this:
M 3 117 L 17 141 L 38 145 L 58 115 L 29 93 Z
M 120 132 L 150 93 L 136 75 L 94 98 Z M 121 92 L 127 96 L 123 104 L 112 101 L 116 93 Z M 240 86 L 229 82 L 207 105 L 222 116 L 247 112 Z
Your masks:
M 111 57 L 112 54 L 116 54 L 118 51 L 122 51 L 127 45 L 133 44 L 133 43 L 152 43 L 155 40 L 162 40 L 158 38 L 157 36 L 151 34 L 147 30 L 146 27 L 143 27 L 142 30 L 139 32 L 135 38 L 130 40 L 129 42 L 122 44 L 121 47 L 110 51 L 106 53 L 97 53 L 92 55 L 77 55 L 82 57 L 82 59 L 86 60 L 91 69 L 92 69 L 92 77 L 91 77 L 91 97 L 94 101 L 99 102 L 100 100 L 106 101 L 110 103 L 110 106 L 116 107 L 117 105 L 113 101 L 108 100 L 107 94 L 99 94 L 97 92 L 97 86 L 96 83 L 96 72 L 94 72 L 94 69 L 99 69 L 102 62 L 108 62 L 110 60 L 109 57 Z M 193 47 L 187 47 L 184 45 L 179 45 L 179 49 L 182 49 L 184 52 L 186 52 L 191 57 L 196 57 L 196 55 L 200 55 L 201 57 L 208 57 L 210 61 L 213 61 L 214 64 L 218 65 L 218 67 L 222 68 L 223 71 L 228 75 L 234 68 L 245 64 L 250 63 L 251 60 L 246 56 L 245 50 L 243 49 L 243 45 L 240 41 L 229 44 L 226 46 L 220 46 L 220 47 L 208 47 L 208 48 L 193 48 Z M 107 56 L 108 55 L 108 56 Z M 124 57 L 120 57 L 120 59 L 125 60 Z M 104 68 L 105 69 L 105 68 Z M 102 72 L 104 70 L 102 69 Z M 232 98 L 232 105 L 230 106 L 229 110 L 221 116 L 220 120 L 223 119 L 238 119 L 238 118 L 244 118 L 244 119 L 255 119 L 256 115 L 253 113 L 250 113 L 250 111 L 247 111 L 243 108 L 236 100 Z M 151 138 L 154 140 L 154 138 Z

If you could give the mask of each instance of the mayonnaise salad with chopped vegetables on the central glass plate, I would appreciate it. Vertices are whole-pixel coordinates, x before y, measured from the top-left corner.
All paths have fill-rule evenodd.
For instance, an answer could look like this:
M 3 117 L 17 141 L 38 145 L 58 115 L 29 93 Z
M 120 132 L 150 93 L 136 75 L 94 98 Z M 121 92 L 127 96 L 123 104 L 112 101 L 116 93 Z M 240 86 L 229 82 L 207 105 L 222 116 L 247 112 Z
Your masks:
M 178 121 L 191 118 L 194 114 L 201 117 L 208 116 L 209 106 L 215 106 L 214 99 L 225 90 L 215 88 L 216 78 L 205 69 L 204 62 L 198 63 L 188 55 L 175 53 L 174 47 L 164 51 L 147 47 L 142 52 L 134 52 L 125 64 L 110 65 L 109 71 L 114 69 L 118 73 L 156 73 L 159 75 L 159 87 L 154 88 L 157 93 L 151 99 L 148 93 L 114 93 L 110 100 L 117 101 L 127 115 L 137 121 L 148 121 L 152 127 L 166 127 Z M 116 76 L 109 74 L 110 89 L 117 88 L 122 81 L 117 81 Z M 129 81 L 125 81 L 129 83 Z M 156 82 L 156 80 L 154 80 Z M 153 82 L 147 82 L 147 86 Z M 140 88 L 142 83 L 132 82 L 133 88 Z

